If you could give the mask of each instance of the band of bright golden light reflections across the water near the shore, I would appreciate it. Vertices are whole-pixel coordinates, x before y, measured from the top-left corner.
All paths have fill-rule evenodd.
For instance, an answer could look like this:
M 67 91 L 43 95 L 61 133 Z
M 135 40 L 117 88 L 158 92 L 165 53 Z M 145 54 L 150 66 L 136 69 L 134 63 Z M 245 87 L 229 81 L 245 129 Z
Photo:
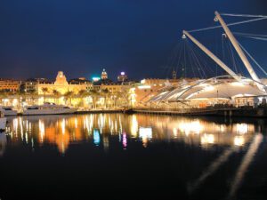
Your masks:
M 213 145 L 244 146 L 251 140 L 255 124 L 217 124 L 206 120 L 173 116 L 100 114 L 80 116 L 28 116 L 10 118 L 7 134 L 12 142 L 54 144 L 64 154 L 69 144 L 93 140 L 108 149 L 109 137 L 118 137 L 122 147 L 127 140 L 139 140 L 144 148 L 158 140 L 178 140 L 187 145 L 212 148 Z M 101 140 L 102 138 L 102 140 Z M 34 144 L 32 144 L 34 148 Z

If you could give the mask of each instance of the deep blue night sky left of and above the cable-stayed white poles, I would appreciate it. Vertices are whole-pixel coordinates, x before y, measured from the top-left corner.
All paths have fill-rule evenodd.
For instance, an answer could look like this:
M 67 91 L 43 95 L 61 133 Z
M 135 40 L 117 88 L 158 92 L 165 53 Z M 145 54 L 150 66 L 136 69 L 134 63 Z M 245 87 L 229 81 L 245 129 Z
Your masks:
M 215 10 L 267 14 L 267 1 L 0 0 L 0 76 L 166 77 L 182 29 L 214 25 Z

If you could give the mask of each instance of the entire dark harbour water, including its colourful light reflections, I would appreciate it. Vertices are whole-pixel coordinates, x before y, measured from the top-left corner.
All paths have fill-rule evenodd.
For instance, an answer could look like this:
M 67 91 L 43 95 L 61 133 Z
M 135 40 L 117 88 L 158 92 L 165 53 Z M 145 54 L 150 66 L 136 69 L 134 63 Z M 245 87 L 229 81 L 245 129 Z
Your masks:
M 0 199 L 267 199 L 264 120 L 9 118 Z

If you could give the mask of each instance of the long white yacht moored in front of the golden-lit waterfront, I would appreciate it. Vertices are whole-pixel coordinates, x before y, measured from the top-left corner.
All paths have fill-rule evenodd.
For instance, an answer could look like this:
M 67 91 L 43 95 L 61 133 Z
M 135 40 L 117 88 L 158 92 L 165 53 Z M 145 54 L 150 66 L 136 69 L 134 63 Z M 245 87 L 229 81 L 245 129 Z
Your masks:
M 41 106 L 28 106 L 23 110 L 23 116 L 37 115 L 60 115 L 72 114 L 77 111 L 77 108 L 69 108 L 66 106 L 56 105 L 54 103 L 44 103 Z

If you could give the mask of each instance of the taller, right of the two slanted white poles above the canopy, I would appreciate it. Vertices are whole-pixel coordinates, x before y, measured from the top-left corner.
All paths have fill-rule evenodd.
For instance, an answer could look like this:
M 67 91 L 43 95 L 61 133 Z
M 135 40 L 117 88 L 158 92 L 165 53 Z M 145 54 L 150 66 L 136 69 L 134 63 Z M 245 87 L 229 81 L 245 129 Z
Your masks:
M 257 87 L 261 91 L 266 92 L 263 85 L 261 85 L 262 82 L 261 82 L 260 78 L 256 75 L 254 68 L 252 68 L 250 62 L 247 60 L 247 57 L 246 57 L 245 53 L 242 51 L 241 47 L 239 46 L 237 39 L 232 35 L 231 30 L 227 27 L 226 23 L 224 22 L 224 20 L 223 20 L 223 18 L 219 12 L 215 12 L 215 20 L 219 20 L 219 22 L 221 23 L 221 25 L 225 31 L 225 34 L 230 39 L 231 44 L 233 44 L 235 50 L 239 53 L 239 57 L 242 60 L 242 62 L 244 63 L 245 67 L 247 68 L 247 71 L 250 74 L 250 76 L 252 77 L 252 79 L 255 80 L 255 82 L 259 83 L 259 84 L 257 84 Z

